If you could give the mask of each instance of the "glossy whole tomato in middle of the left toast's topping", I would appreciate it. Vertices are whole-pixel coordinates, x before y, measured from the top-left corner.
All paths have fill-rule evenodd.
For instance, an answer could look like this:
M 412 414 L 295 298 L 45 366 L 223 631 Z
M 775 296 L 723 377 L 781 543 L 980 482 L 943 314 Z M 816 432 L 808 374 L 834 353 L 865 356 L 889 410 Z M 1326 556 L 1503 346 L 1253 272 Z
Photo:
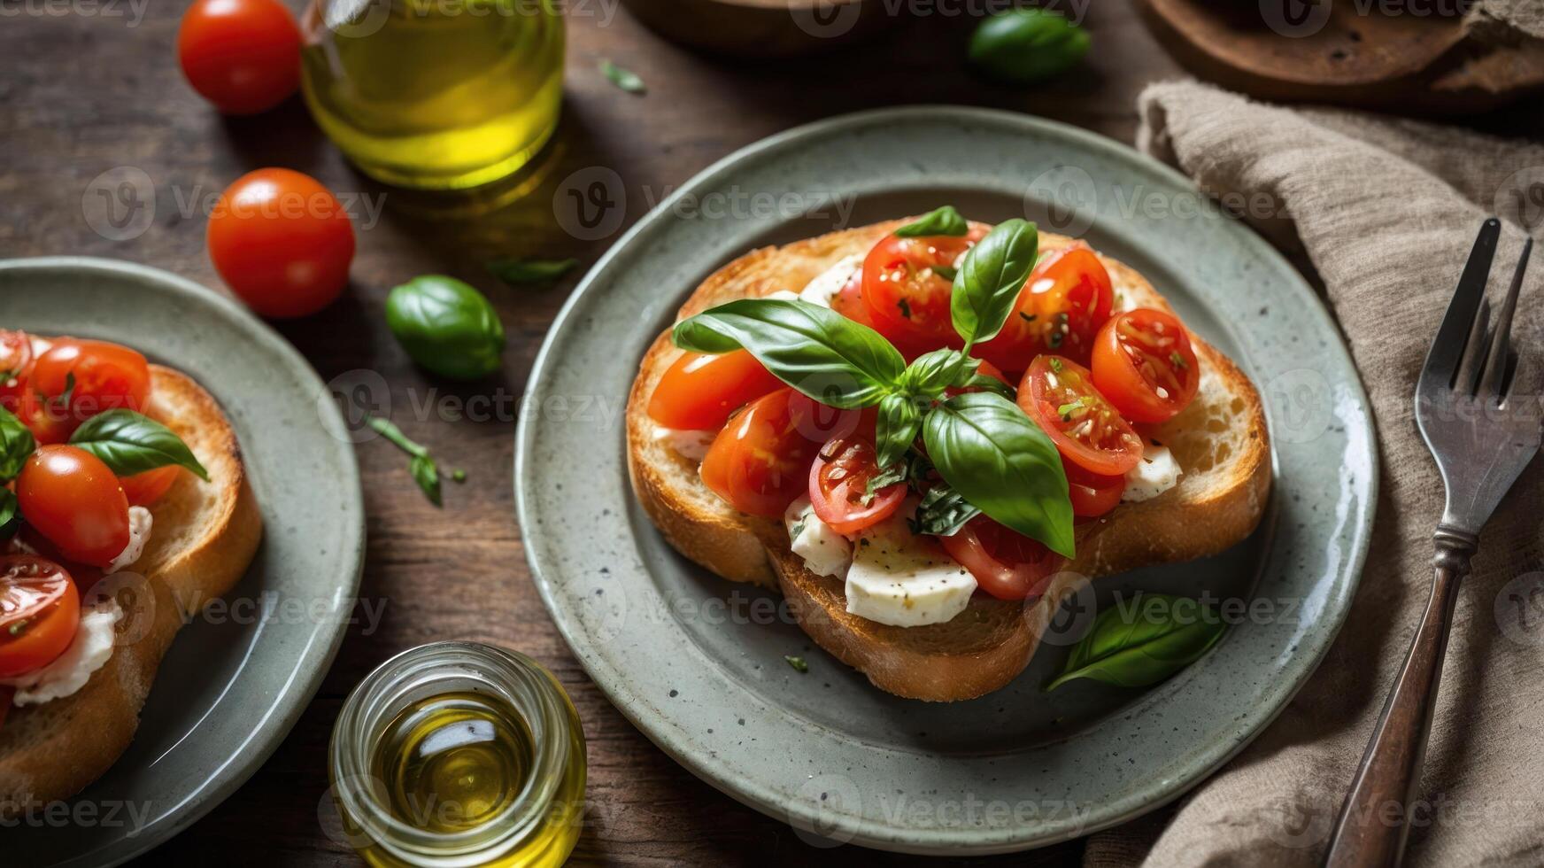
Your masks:
M 22 517 L 68 561 L 107 567 L 128 547 L 128 499 L 102 459 L 39 446 L 15 479 Z

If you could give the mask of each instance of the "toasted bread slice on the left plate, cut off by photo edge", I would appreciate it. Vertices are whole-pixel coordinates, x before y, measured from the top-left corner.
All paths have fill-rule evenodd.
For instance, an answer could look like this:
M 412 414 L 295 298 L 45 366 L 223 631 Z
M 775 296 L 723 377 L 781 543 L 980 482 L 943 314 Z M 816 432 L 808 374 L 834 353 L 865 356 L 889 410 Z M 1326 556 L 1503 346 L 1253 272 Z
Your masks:
M 79 692 L 11 709 L 0 726 L 0 815 L 74 795 L 117 761 L 184 615 L 229 592 L 258 550 L 262 517 L 236 432 L 188 377 L 157 364 L 150 377 L 145 414 L 176 431 L 210 479 L 178 474 L 150 507 L 150 542 L 128 567 L 145 581 L 117 592 L 124 618 L 107 664 Z

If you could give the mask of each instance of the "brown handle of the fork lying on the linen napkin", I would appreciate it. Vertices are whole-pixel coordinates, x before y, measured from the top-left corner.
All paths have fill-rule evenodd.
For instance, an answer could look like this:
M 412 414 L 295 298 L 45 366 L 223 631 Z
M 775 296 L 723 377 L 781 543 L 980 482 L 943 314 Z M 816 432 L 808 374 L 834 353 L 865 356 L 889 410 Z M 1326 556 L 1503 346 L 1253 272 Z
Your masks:
M 1340 806 L 1325 854 L 1329 868 L 1399 865 L 1405 854 L 1407 806 L 1420 782 L 1459 581 L 1479 545 L 1475 534 L 1447 525 L 1437 525 L 1434 542 L 1431 599 Z

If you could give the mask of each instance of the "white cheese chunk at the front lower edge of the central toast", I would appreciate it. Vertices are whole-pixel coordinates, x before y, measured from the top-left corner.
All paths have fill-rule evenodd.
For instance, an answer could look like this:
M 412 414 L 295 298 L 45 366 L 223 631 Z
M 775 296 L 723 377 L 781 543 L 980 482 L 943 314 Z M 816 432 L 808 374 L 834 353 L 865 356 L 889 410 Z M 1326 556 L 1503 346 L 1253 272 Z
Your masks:
M 916 500 L 858 534 L 848 570 L 848 612 L 880 624 L 942 624 L 970 604 L 976 576 L 937 542 L 906 527 Z

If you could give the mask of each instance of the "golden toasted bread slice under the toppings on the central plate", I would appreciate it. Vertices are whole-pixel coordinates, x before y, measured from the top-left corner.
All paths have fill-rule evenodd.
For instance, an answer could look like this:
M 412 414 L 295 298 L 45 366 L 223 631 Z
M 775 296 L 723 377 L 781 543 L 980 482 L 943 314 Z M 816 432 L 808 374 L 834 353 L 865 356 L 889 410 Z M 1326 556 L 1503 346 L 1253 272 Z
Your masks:
M 735 298 L 798 292 L 848 255 L 868 252 L 906 221 L 832 232 L 784 247 L 753 250 L 729 263 L 681 307 L 690 317 Z M 1055 250 L 1072 238 L 1041 235 Z M 1124 307 L 1169 304 L 1139 273 L 1101 255 Z M 1215 554 L 1246 537 L 1265 513 L 1271 449 L 1265 409 L 1248 377 L 1192 335 L 1201 386 L 1180 415 L 1150 426 L 1170 446 L 1184 476 L 1164 494 L 1121 504 L 1078 527 L 1078 558 L 1033 604 L 976 595 L 951 621 L 891 627 L 846 612 L 840 579 L 817 576 L 789 550 L 780 520 L 747 516 L 703 485 L 695 462 L 658 440 L 645 408 L 655 385 L 679 355 L 669 331 L 644 355 L 627 405 L 627 453 L 633 490 L 665 539 L 713 573 L 777 587 L 800 627 L 823 649 L 891 693 L 931 701 L 968 700 L 996 690 L 1028 666 L 1055 607 L 1090 578 L 1135 567 Z

